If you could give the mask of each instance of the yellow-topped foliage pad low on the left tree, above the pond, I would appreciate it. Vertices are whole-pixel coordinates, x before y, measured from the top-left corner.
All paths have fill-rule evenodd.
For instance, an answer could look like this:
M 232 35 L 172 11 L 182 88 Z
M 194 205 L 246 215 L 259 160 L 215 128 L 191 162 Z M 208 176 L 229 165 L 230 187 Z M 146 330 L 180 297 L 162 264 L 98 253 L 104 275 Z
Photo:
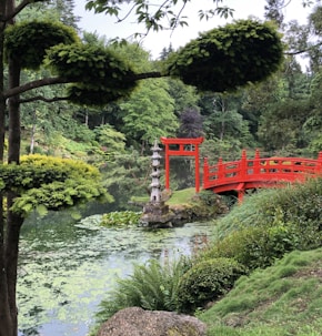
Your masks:
M 16 191 L 12 211 L 26 216 L 37 208 L 48 210 L 87 203 L 92 198 L 112 197 L 102 186 L 99 171 L 81 161 L 44 155 L 22 156 L 20 165 L 0 165 L 0 190 Z

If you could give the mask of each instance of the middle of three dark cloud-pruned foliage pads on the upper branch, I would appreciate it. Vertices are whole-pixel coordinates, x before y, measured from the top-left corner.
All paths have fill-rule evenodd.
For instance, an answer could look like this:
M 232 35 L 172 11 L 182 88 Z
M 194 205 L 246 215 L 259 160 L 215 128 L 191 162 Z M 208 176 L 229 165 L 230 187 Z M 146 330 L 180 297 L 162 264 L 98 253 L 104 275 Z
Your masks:
M 69 88 L 73 103 L 103 105 L 129 95 L 137 85 L 131 63 L 100 45 L 54 45 L 48 50 L 46 64 L 60 77 L 78 82 Z

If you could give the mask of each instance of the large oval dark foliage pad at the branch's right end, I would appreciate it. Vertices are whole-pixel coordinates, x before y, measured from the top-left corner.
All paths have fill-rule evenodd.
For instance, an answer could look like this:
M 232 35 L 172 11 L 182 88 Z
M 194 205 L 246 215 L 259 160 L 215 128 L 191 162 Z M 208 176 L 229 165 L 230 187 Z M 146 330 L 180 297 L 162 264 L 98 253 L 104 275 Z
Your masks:
M 266 79 L 282 60 L 283 45 L 271 23 L 239 20 L 170 54 L 165 72 L 200 91 L 224 92 Z

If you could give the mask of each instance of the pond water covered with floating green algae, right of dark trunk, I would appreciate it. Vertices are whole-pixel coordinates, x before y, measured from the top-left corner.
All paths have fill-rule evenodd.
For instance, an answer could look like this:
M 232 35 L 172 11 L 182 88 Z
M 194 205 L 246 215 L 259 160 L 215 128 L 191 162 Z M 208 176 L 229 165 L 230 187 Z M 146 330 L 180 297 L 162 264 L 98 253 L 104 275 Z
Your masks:
M 133 263 L 190 255 L 207 244 L 213 222 L 149 231 L 107 228 L 101 215 L 63 215 L 23 225 L 18 269 L 19 336 L 85 336 L 94 313 Z

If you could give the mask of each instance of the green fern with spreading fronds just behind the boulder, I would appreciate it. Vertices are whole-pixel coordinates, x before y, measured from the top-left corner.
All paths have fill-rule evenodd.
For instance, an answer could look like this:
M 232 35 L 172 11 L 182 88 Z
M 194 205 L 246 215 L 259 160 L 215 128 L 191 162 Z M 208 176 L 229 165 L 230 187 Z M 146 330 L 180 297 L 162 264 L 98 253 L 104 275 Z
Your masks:
M 108 299 L 100 304 L 98 322 L 104 322 L 125 307 L 141 307 L 149 310 L 175 310 L 180 278 L 189 269 L 188 258 L 161 265 L 151 259 L 147 265 L 134 265 L 133 274 L 121 278 Z

